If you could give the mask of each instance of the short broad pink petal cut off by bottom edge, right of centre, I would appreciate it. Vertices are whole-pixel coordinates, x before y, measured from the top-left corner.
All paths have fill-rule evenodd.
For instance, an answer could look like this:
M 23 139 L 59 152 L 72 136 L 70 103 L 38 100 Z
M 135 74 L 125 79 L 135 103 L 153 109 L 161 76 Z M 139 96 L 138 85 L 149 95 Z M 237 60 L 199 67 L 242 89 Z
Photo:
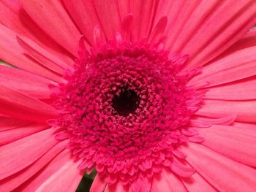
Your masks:
M 173 172 L 162 169 L 158 177 L 153 178 L 151 191 L 154 192 L 187 192 L 181 180 Z

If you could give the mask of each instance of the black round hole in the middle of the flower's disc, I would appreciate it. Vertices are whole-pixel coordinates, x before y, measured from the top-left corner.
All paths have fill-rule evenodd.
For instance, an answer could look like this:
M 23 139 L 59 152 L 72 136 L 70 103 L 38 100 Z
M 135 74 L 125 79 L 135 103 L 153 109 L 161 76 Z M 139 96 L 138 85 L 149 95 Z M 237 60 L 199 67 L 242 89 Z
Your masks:
M 140 97 L 128 88 L 121 91 L 118 96 L 114 96 L 112 103 L 113 108 L 118 112 L 118 115 L 127 116 L 129 113 L 135 112 L 138 108 Z

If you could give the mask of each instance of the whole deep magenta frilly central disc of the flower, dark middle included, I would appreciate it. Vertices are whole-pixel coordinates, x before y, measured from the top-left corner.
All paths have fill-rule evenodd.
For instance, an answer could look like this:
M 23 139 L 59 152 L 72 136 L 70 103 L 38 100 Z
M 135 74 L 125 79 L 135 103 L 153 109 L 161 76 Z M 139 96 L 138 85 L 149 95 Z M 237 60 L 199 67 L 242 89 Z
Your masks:
M 193 73 L 180 71 L 184 61 L 145 43 L 111 42 L 77 61 L 56 93 L 60 116 L 53 126 L 56 139 L 69 139 L 83 161 L 79 169 L 96 168 L 108 183 L 173 169 L 200 101 L 187 87 Z

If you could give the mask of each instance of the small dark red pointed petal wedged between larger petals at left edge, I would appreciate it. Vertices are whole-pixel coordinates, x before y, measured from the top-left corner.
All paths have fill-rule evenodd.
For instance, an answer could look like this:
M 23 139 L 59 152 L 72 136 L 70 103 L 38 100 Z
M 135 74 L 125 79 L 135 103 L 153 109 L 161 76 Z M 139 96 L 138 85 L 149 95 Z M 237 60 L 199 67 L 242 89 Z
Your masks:
M 29 123 L 30 122 L 27 122 L 25 120 L 0 116 L 0 131 L 7 131 L 12 128 L 17 128 L 19 126 L 26 126 Z

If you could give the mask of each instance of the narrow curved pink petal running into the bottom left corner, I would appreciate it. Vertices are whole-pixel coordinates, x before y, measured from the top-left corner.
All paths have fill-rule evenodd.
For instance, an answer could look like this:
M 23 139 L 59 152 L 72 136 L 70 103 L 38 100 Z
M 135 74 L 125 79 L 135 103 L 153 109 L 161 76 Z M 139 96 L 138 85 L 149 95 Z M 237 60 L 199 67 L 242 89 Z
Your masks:
M 0 191 L 12 191 L 17 188 L 20 184 L 24 183 L 26 180 L 29 180 L 34 174 L 39 172 L 42 167 L 47 165 L 51 159 L 58 155 L 61 150 L 64 150 L 64 147 L 67 145 L 67 142 L 59 142 L 57 145 L 48 150 L 47 153 L 42 155 L 34 164 L 26 167 L 25 169 L 12 174 L 10 177 L 5 178 L 0 181 Z

